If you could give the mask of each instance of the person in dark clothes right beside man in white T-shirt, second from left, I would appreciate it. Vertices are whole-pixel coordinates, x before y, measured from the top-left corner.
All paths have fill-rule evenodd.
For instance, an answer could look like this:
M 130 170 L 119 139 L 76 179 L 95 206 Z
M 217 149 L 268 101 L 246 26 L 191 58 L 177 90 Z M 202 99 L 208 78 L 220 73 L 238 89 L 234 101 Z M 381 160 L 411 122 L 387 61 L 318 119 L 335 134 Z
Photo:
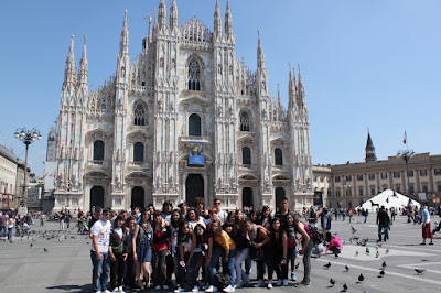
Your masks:
M 125 239 L 122 231 L 123 217 L 117 216 L 114 220 L 114 227 L 110 231 L 110 285 L 114 292 L 121 292 L 122 290 L 122 278 L 125 270 L 125 262 L 127 260 L 127 253 L 125 249 Z

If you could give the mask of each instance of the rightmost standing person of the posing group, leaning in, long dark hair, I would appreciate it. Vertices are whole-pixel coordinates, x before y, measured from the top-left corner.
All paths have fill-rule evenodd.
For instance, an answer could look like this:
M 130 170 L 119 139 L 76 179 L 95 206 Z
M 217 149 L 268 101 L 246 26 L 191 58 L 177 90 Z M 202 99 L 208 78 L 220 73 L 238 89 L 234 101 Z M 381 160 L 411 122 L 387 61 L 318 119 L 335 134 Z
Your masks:
M 295 238 L 298 238 L 298 235 L 302 236 L 302 249 L 299 250 L 299 254 L 303 256 L 304 267 L 303 280 L 299 283 L 295 283 L 295 286 L 309 286 L 311 284 L 311 251 L 313 248 L 313 237 L 310 226 L 303 224 L 298 218 L 294 218 L 294 230 Z

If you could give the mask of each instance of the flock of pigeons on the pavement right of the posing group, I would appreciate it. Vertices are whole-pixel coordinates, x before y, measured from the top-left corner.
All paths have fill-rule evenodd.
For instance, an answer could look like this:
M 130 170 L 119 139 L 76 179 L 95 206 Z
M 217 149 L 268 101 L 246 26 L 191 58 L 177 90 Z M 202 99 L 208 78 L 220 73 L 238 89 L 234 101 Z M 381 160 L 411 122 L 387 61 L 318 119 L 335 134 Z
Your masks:
M 351 231 L 352 231 L 353 236 L 349 238 L 349 242 L 352 243 L 354 241 L 357 246 L 366 247 L 366 254 L 369 256 L 370 249 L 369 249 L 369 247 L 367 247 L 367 242 L 369 241 L 369 238 L 365 237 L 365 238 L 361 239 L 358 236 L 355 235 L 357 229 L 355 229 L 353 226 L 351 226 Z M 376 250 L 375 258 L 379 258 L 379 248 L 380 247 L 381 247 L 381 243 L 377 242 L 377 245 L 375 246 L 375 250 Z M 388 253 L 389 253 L 389 249 L 386 249 L 385 254 L 388 254 Z M 359 251 L 356 250 L 355 257 L 357 257 L 358 254 L 359 254 Z M 327 262 L 326 264 L 323 265 L 323 269 L 329 270 L 331 268 L 331 265 L 332 265 L 331 262 Z M 386 261 L 384 261 L 381 263 L 381 268 L 379 269 L 379 273 L 378 273 L 377 278 L 384 278 L 386 275 L 386 267 L 387 267 L 387 263 L 386 263 Z M 417 272 L 417 274 L 422 274 L 426 271 L 426 269 L 415 269 L 415 271 Z M 344 272 L 349 272 L 349 267 L 345 265 Z M 364 280 L 365 280 L 365 276 L 363 275 L 363 273 L 361 273 L 358 275 L 358 281 L 356 283 L 361 284 L 361 283 L 363 283 Z M 334 287 L 336 282 L 334 279 L 331 278 L 330 283 L 331 283 L 331 285 L 329 287 Z M 348 285 L 346 283 L 344 283 L 343 290 L 340 292 L 341 293 L 347 292 L 348 289 L 349 289 Z

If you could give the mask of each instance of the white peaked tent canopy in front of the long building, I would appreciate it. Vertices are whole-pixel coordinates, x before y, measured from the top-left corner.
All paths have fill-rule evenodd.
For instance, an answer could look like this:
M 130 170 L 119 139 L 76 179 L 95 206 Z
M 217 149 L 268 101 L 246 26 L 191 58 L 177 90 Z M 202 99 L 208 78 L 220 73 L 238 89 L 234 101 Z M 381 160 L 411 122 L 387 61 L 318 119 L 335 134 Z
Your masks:
M 409 197 L 399 194 L 397 192 L 394 192 L 391 189 L 386 189 L 383 193 L 374 196 L 373 198 L 366 200 L 363 205 L 358 206 L 357 208 L 364 208 L 364 209 L 377 209 L 381 206 L 385 206 L 385 208 L 402 208 L 407 207 L 409 204 Z M 415 207 L 417 206 L 420 208 L 420 204 L 413 199 L 411 200 L 411 206 Z M 373 205 L 374 204 L 374 205 Z M 377 206 L 378 204 L 378 206 Z

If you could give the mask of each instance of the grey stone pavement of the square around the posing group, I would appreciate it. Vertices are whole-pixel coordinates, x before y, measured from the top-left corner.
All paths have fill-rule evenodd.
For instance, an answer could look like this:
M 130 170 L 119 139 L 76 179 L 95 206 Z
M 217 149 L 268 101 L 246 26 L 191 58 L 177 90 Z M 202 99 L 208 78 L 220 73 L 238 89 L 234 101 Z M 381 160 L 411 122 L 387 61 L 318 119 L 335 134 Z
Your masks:
M 434 216 L 433 221 L 438 220 L 440 218 Z M 354 235 L 369 238 L 369 254 L 366 253 L 366 247 L 349 242 L 353 236 L 351 226 L 357 229 Z M 57 228 L 57 223 L 50 221 L 43 230 L 54 231 Z M 42 230 L 36 225 L 31 229 Z M 441 235 L 435 236 L 434 246 L 420 246 L 420 225 L 407 224 L 407 218 L 397 217 L 390 231 L 390 241 L 378 248 L 379 256 L 376 258 L 375 215 L 369 216 L 367 224 L 357 217 L 352 224 L 334 220 L 332 230 L 344 243 L 341 257 L 336 259 L 326 254 L 313 259 L 310 287 L 275 286 L 273 292 L 341 292 L 344 284 L 348 286 L 347 292 L 440 292 Z M 15 238 L 12 245 L 0 242 L 0 292 L 92 292 L 89 249 L 90 240 L 77 235 L 76 228 L 72 227 L 69 231 L 60 232 L 50 240 L 36 234 L 29 239 Z M 327 262 L 331 262 L 331 268 L 324 269 Z M 387 264 L 385 275 L 378 278 L 383 262 Z M 349 268 L 348 272 L 345 272 L 345 265 Z M 303 276 L 302 267 L 297 271 L 300 280 Z M 417 268 L 426 271 L 418 275 L 415 271 Z M 365 280 L 357 283 L 361 273 Z M 252 275 L 256 275 L 255 267 Z M 332 287 L 331 278 L 335 280 Z M 267 292 L 267 289 L 236 291 Z

